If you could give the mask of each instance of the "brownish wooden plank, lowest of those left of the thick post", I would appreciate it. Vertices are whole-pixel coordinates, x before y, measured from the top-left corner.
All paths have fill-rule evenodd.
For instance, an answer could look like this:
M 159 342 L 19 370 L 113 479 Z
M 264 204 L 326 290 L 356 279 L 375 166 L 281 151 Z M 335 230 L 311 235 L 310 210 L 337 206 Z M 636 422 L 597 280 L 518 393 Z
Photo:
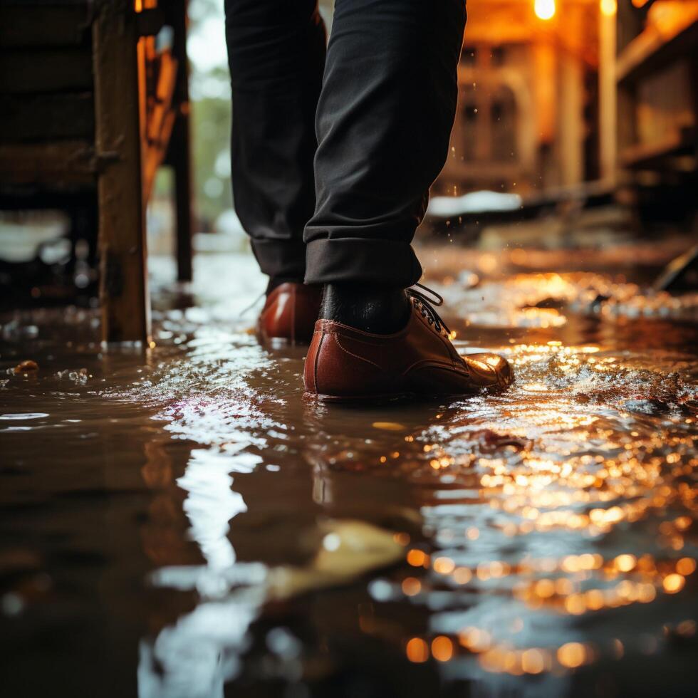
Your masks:
M 2 184 L 94 184 L 98 170 L 93 144 L 88 141 L 0 145 Z

